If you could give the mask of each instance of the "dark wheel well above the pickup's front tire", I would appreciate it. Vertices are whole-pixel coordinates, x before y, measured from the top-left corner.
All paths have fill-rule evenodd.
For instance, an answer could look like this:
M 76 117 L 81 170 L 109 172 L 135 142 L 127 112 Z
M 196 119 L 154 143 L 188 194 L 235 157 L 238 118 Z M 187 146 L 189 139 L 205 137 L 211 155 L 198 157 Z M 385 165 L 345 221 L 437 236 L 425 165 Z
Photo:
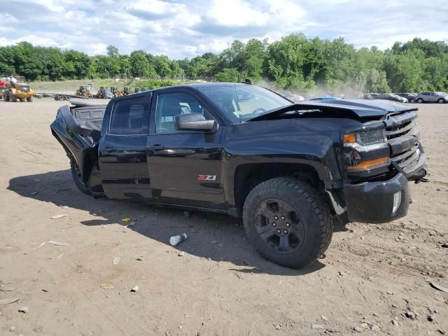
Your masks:
M 241 165 L 235 172 L 235 205 L 242 211 L 247 195 L 255 186 L 274 179 L 274 177 L 291 176 L 307 181 L 318 190 L 323 191 L 323 182 L 314 167 L 295 163 L 264 163 Z

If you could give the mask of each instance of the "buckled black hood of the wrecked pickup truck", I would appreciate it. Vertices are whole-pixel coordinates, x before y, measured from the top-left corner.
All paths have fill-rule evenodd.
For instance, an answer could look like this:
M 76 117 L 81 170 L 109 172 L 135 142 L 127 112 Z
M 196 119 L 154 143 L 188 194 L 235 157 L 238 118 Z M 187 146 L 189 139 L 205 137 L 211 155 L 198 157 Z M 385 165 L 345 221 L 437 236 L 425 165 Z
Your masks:
M 260 116 L 247 120 L 261 121 L 281 119 L 283 114 L 288 112 L 296 113 L 297 118 L 316 116 L 328 118 L 354 118 L 357 120 L 381 119 L 388 113 L 401 113 L 405 111 L 417 111 L 413 106 L 407 106 L 388 100 L 361 100 L 361 99 L 335 99 L 325 101 L 307 101 L 280 107 L 267 111 Z M 309 113 L 309 114 L 308 114 Z

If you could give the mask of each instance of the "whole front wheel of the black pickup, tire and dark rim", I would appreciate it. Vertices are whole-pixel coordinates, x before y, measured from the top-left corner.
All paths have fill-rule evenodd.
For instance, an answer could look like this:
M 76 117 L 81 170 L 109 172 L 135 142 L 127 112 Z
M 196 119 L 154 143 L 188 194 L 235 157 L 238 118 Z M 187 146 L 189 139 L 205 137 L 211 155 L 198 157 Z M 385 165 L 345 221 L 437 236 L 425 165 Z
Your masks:
M 330 208 L 316 189 L 281 177 L 251 190 L 243 209 L 246 236 L 263 258 L 300 268 L 319 258 L 332 237 Z

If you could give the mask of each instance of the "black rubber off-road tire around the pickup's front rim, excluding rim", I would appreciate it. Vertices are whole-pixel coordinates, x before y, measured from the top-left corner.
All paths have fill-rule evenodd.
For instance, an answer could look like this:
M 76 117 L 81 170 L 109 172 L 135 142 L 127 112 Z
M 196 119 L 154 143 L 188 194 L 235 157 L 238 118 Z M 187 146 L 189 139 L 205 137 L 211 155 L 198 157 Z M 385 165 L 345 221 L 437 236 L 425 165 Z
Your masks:
M 257 213 L 262 204 L 270 200 L 280 200 L 300 216 L 304 235 L 294 251 L 275 251 L 258 234 L 260 217 Z M 333 232 L 330 208 L 323 199 L 323 193 L 319 194 L 304 181 L 289 177 L 270 179 L 255 186 L 244 202 L 243 219 L 246 237 L 258 253 L 267 260 L 290 268 L 304 267 L 321 257 L 330 245 Z

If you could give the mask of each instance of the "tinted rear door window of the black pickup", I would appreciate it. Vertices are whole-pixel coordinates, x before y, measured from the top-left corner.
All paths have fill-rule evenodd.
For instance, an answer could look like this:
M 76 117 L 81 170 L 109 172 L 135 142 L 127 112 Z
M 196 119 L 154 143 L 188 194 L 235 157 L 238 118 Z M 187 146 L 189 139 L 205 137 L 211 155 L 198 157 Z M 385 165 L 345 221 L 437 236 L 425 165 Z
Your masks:
M 145 99 L 143 97 L 119 100 L 113 105 L 109 134 L 147 134 L 144 116 Z

